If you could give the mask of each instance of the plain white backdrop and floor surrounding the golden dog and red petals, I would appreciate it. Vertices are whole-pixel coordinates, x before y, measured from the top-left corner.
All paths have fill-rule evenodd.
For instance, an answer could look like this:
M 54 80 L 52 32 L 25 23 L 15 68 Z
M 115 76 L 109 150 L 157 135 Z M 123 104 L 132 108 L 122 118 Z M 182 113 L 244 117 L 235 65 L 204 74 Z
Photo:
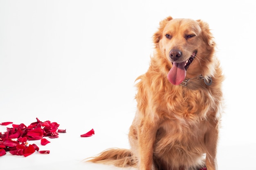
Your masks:
M 208 22 L 216 38 L 226 76 L 219 169 L 256 170 L 255 9 L 249 0 L 0 0 L 0 122 L 37 117 L 67 129 L 46 146 L 31 141 L 50 154 L 7 153 L 0 169 L 121 170 L 81 161 L 129 148 L 134 81 L 148 69 L 159 21 L 171 15 Z M 80 137 L 92 128 L 94 136 Z

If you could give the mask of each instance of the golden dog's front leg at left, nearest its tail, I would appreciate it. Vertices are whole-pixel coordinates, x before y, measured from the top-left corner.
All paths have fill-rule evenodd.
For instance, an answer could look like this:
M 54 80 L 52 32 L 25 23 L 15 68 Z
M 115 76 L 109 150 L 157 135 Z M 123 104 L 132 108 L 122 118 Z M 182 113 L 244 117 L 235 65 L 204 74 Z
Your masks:
M 149 121 L 142 120 L 138 132 L 139 170 L 155 170 L 153 165 L 153 150 L 157 126 L 149 123 Z

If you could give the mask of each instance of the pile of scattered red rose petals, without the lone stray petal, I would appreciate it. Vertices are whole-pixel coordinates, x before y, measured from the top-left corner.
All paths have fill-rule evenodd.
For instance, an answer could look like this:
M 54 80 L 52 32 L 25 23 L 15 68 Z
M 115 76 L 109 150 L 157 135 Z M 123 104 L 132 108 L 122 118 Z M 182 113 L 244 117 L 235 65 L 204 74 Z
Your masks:
M 8 125 L 12 122 L 3 122 L 0 125 Z M 25 157 L 31 155 L 35 151 L 39 153 L 49 154 L 49 150 L 40 150 L 36 144 L 29 144 L 27 140 L 41 139 L 41 145 L 50 143 L 47 139 L 57 138 L 58 133 L 66 133 L 66 130 L 58 129 L 59 124 L 50 122 L 49 120 L 41 122 L 36 118 L 36 122 L 31 123 L 29 126 L 25 124 L 12 124 L 12 128 L 7 127 L 7 131 L 0 132 L 0 156 L 9 151 L 12 155 L 23 155 Z M 57 131 L 58 130 L 58 131 Z

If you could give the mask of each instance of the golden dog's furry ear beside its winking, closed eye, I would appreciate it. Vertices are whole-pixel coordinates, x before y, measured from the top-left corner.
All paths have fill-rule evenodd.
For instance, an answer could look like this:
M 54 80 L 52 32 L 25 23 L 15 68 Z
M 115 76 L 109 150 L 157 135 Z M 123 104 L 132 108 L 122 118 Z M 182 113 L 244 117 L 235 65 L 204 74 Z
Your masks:
M 202 20 L 196 20 L 196 21 L 199 23 L 202 29 L 202 37 L 205 44 L 207 45 L 207 49 L 210 50 L 214 48 L 215 46 L 214 37 L 209 29 L 209 24 L 207 24 L 206 22 L 203 22 Z

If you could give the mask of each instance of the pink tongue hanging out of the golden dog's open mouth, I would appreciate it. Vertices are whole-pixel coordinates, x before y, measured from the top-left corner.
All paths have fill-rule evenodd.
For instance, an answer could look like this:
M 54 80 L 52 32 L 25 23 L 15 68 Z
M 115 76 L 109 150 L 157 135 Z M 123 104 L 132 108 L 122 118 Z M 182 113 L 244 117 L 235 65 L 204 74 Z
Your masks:
M 184 68 L 185 62 L 173 62 L 173 67 L 167 74 L 168 81 L 173 85 L 179 85 L 186 77 L 186 70 Z

